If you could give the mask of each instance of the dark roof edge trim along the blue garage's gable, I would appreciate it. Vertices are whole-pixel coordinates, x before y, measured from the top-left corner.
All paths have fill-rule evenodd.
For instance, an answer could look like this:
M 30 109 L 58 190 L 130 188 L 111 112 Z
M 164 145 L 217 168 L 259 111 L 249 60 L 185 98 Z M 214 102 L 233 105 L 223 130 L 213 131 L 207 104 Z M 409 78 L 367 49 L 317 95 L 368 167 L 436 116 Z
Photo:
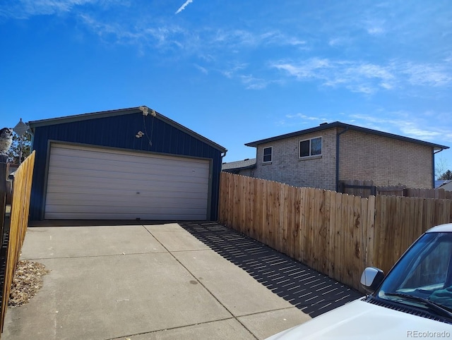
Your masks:
M 146 107 L 147 108 L 147 107 Z M 169 124 L 170 126 L 174 126 L 174 128 L 178 128 L 179 130 L 184 131 L 184 133 L 187 133 L 188 135 L 191 135 L 192 137 L 201 140 L 201 142 L 205 142 L 206 144 L 210 145 L 211 147 L 214 147 L 217 150 L 220 150 L 221 152 L 226 152 L 227 150 L 225 147 L 222 147 L 221 145 L 218 145 L 217 143 L 213 142 L 212 140 L 209 140 L 206 137 L 203 137 L 202 135 L 199 135 L 198 133 L 194 132 L 193 130 L 190 130 L 189 128 L 186 128 L 185 126 L 182 126 L 181 124 L 177 123 L 176 121 L 173 121 L 172 119 L 169 119 L 167 116 L 163 116 L 162 114 L 159 114 L 157 111 L 149 109 L 148 111 L 154 111 L 156 114 L 156 118 L 160 119 L 161 121 L 164 121 L 165 123 Z M 58 118 L 51 118 L 51 119 L 42 119 L 40 121 L 30 121 L 28 122 L 31 129 L 33 128 L 39 128 L 41 126 L 50 126 L 50 125 L 56 125 L 61 123 L 73 123 L 76 121 L 85 121 L 89 119 L 100 119 L 100 118 L 107 118 L 112 116 L 123 116 L 126 114 L 137 114 L 141 113 L 140 107 L 131 107 L 129 109 L 117 109 L 117 110 L 109 110 L 109 111 L 99 111 L 99 112 L 93 112 L 90 114 L 76 114 L 73 116 L 64 116 L 64 117 L 58 117 Z

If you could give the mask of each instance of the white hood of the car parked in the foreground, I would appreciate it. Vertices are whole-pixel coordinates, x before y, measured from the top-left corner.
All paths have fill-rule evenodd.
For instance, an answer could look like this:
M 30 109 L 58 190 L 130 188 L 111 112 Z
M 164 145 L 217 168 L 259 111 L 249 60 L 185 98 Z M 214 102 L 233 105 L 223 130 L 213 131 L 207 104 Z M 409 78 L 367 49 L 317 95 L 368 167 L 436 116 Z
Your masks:
M 438 332 L 444 332 L 444 334 L 441 335 Z M 268 339 L 389 340 L 444 338 L 451 334 L 451 324 L 398 312 L 359 299 Z

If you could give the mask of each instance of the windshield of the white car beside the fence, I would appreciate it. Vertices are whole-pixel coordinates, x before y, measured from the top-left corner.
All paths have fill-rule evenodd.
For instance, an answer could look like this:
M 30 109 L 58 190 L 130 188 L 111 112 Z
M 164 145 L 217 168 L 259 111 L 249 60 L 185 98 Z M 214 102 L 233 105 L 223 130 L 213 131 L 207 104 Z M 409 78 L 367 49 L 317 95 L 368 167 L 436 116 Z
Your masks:
M 375 296 L 452 311 L 452 233 L 426 233 L 403 255 Z M 451 315 L 449 315 L 450 317 Z

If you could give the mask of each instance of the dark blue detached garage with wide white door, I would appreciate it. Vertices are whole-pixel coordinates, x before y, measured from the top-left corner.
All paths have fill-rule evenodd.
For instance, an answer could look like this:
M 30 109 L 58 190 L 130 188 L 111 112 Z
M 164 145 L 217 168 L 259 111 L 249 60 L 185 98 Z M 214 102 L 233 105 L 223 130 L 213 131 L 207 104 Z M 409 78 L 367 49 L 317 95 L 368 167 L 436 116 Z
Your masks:
M 147 107 L 31 121 L 30 220 L 216 220 L 225 148 Z

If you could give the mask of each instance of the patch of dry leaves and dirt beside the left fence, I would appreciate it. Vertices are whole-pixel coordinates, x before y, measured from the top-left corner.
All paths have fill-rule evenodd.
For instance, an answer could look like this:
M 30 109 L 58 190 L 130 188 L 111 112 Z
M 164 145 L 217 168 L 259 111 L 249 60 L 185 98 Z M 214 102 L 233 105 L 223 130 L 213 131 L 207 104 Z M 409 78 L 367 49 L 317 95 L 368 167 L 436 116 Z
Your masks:
M 22 260 L 18 262 L 16 274 L 14 274 L 13 284 L 11 284 L 11 294 L 8 305 L 18 307 L 28 303 L 30 298 L 36 295 L 42 287 L 42 277 L 49 270 L 45 269 L 42 263 Z

